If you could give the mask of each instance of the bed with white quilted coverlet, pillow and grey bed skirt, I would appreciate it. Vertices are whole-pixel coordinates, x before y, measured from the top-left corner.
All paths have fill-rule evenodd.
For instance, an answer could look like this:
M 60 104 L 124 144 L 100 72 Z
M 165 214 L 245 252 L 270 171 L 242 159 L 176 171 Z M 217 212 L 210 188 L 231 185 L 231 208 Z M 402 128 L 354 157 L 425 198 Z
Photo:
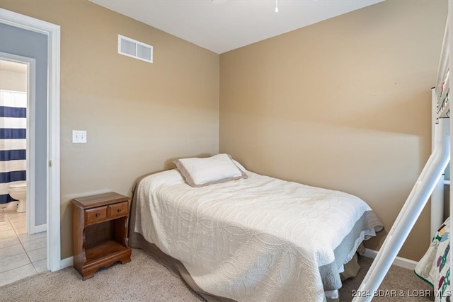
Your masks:
M 382 222 L 359 197 L 183 158 L 134 187 L 129 244 L 208 301 L 325 301 Z

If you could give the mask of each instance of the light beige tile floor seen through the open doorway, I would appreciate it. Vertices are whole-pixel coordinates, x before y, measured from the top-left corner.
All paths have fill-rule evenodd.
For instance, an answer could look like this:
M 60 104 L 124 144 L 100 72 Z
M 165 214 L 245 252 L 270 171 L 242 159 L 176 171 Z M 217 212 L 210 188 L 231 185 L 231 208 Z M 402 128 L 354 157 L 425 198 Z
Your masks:
M 0 221 L 0 286 L 47 270 L 46 232 L 27 234 L 26 213 L 14 207 Z

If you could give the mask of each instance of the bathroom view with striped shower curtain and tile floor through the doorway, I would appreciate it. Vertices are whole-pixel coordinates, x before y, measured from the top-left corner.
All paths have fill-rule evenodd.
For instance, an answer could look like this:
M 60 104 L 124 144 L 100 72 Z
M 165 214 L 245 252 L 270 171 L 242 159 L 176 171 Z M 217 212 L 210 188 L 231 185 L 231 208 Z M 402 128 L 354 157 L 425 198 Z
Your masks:
M 0 286 L 47 269 L 46 232 L 27 226 L 30 66 L 0 59 Z

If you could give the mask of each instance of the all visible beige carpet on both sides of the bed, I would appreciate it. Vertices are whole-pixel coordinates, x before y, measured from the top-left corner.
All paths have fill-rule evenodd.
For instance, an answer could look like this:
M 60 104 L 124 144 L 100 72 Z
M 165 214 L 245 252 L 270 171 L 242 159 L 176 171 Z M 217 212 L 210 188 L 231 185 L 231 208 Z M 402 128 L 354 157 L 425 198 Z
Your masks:
M 351 301 L 352 290 L 360 285 L 372 260 L 361 257 L 362 267 L 355 279 L 344 282 L 340 301 Z M 373 301 L 434 301 L 432 296 L 415 296 L 430 289 L 409 269 L 392 267 L 381 286 L 397 296 L 376 297 Z M 385 291 L 384 291 L 385 292 Z M 404 294 L 404 296 L 401 296 Z M 125 265 L 101 269 L 82 281 L 78 272 L 67 267 L 59 272 L 44 272 L 0 288 L 0 301 L 204 301 L 188 286 L 153 258 L 132 249 L 132 260 Z

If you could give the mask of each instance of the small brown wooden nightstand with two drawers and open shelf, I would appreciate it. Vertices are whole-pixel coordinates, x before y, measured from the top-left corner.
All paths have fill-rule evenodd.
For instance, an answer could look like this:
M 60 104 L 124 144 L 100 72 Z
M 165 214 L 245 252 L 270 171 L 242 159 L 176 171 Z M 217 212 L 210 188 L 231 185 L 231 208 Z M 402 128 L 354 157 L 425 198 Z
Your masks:
M 117 261 L 130 262 L 126 240 L 129 201 L 130 197 L 115 192 L 71 200 L 74 268 L 82 279 Z

